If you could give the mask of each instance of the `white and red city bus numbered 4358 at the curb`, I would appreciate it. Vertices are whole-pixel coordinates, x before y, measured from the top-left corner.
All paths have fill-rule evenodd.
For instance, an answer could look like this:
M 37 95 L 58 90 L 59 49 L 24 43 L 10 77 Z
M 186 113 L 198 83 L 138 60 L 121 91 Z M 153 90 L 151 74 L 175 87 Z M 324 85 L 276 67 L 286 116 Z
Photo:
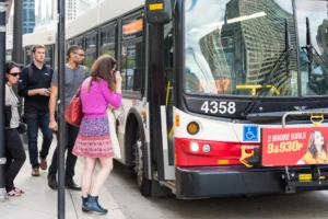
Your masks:
M 134 171 L 141 194 L 187 199 L 327 189 L 325 163 L 261 163 L 265 129 L 312 128 L 307 115 L 326 113 L 327 2 L 151 2 L 103 1 L 66 28 L 67 46 L 82 46 L 89 68 L 103 54 L 118 61 L 118 161 Z M 56 30 L 24 35 L 26 64 L 35 43 L 47 46 L 57 68 Z M 291 112 L 306 116 L 283 124 Z

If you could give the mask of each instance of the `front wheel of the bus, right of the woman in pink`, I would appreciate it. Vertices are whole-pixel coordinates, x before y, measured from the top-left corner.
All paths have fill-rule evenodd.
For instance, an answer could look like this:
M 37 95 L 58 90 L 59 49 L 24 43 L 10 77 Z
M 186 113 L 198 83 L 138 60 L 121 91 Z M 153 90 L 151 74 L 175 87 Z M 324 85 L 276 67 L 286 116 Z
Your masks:
M 133 145 L 133 163 L 134 163 L 134 173 L 137 175 L 137 182 L 139 191 L 143 196 L 151 195 L 151 181 L 145 177 L 145 168 L 144 168 L 144 142 L 142 141 L 140 130 L 138 129 L 136 135 L 136 141 Z

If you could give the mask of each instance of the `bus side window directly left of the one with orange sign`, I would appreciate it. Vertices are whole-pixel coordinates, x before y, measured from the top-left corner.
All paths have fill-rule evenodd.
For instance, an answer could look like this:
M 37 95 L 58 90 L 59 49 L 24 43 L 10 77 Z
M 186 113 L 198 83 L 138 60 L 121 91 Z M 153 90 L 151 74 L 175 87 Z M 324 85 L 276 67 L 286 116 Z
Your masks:
M 101 55 L 104 54 L 115 58 L 115 26 L 101 31 Z

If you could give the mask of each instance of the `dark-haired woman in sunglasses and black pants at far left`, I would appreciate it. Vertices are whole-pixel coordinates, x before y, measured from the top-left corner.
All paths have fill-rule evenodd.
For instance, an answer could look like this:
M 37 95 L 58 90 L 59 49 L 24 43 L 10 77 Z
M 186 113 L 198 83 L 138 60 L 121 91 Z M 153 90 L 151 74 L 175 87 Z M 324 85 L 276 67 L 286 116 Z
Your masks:
M 14 180 L 23 166 L 26 154 L 17 131 L 20 115 L 17 110 L 19 99 L 12 90 L 20 78 L 19 65 L 10 61 L 5 64 L 5 191 L 8 196 L 21 196 L 24 192 L 14 186 Z

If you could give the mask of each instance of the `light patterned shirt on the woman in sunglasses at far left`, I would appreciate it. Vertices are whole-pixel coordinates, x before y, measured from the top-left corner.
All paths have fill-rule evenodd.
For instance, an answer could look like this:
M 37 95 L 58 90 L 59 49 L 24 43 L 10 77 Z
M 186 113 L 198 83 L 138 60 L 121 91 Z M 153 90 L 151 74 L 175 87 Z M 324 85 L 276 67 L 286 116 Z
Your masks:
M 11 105 L 11 120 L 10 128 L 17 128 L 20 126 L 20 114 L 19 114 L 19 99 L 13 92 L 12 88 L 5 83 L 5 105 Z

